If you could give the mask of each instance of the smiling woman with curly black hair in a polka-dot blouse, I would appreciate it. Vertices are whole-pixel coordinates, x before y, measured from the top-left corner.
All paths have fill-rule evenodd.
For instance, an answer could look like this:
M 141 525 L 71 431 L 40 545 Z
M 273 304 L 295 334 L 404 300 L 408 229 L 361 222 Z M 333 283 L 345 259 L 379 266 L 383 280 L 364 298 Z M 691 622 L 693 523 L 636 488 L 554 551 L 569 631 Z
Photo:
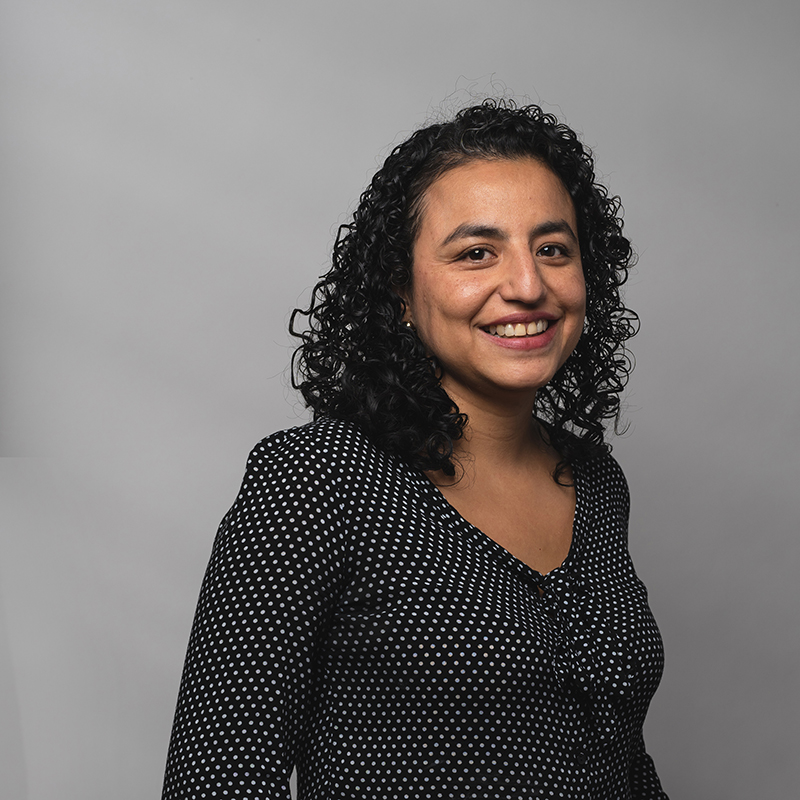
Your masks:
M 535 106 L 395 148 L 203 584 L 164 797 L 664 798 L 661 640 L 609 455 L 619 203 Z

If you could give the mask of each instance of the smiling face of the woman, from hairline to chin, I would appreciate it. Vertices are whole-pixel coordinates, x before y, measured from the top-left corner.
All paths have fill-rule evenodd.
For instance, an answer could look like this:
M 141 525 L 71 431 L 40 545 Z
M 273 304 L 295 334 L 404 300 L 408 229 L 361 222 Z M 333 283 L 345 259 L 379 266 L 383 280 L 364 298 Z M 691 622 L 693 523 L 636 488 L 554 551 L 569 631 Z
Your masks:
M 572 199 L 532 158 L 471 161 L 423 197 L 404 293 L 456 402 L 533 402 L 578 343 L 586 286 Z

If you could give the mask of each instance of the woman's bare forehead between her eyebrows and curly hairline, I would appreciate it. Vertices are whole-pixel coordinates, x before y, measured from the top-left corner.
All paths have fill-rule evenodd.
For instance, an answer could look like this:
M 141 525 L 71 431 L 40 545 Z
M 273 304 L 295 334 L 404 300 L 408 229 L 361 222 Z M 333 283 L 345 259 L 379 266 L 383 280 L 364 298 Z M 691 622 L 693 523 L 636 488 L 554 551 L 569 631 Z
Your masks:
M 428 187 L 420 211 L 420 236 L 466 221 L 506 227 L 553 218 L 575 226 L 575 207 L 561 179 L 534 158 L 453 167 Z

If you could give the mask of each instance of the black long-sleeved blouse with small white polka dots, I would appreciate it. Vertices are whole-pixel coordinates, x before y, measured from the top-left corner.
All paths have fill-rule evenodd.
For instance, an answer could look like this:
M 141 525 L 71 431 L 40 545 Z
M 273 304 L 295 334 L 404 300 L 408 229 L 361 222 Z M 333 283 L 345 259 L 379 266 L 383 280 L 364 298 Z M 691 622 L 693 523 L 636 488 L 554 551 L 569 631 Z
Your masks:
M 347 423 L 250 455 L 203 582 L 163 797 L 666 798 L 661 638 L 610 456 L 540 575 Z

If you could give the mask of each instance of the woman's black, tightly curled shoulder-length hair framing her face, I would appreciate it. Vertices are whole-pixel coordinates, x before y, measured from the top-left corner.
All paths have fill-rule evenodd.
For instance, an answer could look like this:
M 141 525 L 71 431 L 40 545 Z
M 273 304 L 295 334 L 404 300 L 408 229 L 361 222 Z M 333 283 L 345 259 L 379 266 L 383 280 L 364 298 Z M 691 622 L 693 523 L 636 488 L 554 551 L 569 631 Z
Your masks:
M 453 442 L 467 422 L 440 384 L 441 370 L 403 324 L 397 289 L 409 285 L 412 248 L 426 190 L 446 171 L 477 159 L 532 157 L 558 175 L 572 198 L 586 281 L 586 321 L 574 352 L 536 393 L 534 414 L 568 464 L 610 450 L 604 422 L 619 422 L 619 394 L 632 368 L 624 343 L 638 318 L 620 297 L 634 255 L 621 204 L 595 181 L 591 152 L 566 125 L 534 105 L 486 100 L 412 134 L 375 174 L 333 266 L 289 330 L 301 339 L 292 385 L 314 418 L 358 425 L 384 450 L 422 470 L 455 473 Z M 306 330 L 297 317 L 308 317 Z

